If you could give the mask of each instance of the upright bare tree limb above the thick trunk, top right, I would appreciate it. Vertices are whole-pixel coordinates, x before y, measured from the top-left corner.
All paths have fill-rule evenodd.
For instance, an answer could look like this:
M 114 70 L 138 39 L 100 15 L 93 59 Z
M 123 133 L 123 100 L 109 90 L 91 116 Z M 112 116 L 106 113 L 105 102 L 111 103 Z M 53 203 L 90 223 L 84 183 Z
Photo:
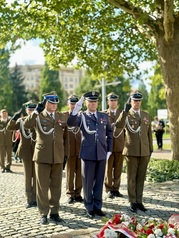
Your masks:
M 174 16 L 173 16 L 173 0 L 164 0 L 164 21 L 165 40 L 170 43 L 174 34 Z

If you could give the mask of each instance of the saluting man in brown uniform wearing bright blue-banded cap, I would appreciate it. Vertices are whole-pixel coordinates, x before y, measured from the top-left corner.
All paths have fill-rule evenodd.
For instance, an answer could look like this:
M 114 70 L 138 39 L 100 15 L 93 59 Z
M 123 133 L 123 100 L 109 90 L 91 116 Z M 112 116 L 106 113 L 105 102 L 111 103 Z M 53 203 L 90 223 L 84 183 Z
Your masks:
M 43 101 L 24 121 L 26 129 L 35 128 L 36 131 L 33 160 L 37 179 L 37 206 L 43 225 L 48 224 L 49 213 L 50 220 L 62 222 L 59 201 L 63 161 L 68 148 L 68 128 L 66 115 L 57 111 L 58 103 L 55 91 L 45 94 Z

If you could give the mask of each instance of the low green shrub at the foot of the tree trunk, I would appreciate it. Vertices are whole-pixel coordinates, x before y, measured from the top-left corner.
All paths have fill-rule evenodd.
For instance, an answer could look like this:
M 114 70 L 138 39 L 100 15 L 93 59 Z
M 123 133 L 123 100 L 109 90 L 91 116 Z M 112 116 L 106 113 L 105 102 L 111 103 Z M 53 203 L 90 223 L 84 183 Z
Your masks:
M 179 179 L 179 161 L 151 159 L 147 169 L 146 180 L 164 182 Z

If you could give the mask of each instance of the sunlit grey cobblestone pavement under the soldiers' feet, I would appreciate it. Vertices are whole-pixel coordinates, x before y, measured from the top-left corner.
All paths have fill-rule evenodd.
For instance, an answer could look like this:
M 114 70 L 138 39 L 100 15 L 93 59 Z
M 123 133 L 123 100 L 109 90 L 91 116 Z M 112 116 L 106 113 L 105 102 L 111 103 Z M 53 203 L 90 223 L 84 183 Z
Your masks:
M 163 152 L 162 156 L 167 158 L 168 153 L 165 155 Z M 22 164 L 13 162 L 12 170 L 13 173 L 0 174 L 0 237 L 89 238 L 104 225 L 98 216 L 95 219 L 87 218 L 83 203 L 67 203 L 65 172 L 59 211 L 64 221 L 59 224 L 51 221 L 48 225 L 39 224 L 38 209 L 25 208 Z M 103 210 L 107 213 L 107 218 L 111 218 L 114 213 L 126 213 L 135 217 L 167 220 L 172 214 L 179 213 L 179 181 L 146 182 L 144 204 L 148 211 L 145 213 L 139 211 L 135 215 L 129 210 L 125 173 L 122 174 L 120 192 L 124 197 L 114 199 L 106 198 L 104 192 Z

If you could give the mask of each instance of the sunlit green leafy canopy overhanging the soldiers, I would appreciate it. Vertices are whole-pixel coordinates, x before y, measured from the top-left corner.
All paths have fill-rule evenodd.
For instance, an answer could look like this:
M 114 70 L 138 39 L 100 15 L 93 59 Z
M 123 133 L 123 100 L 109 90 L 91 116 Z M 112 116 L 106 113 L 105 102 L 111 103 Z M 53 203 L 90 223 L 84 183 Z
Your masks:
M 132 72 L 137 63 L 156 57 L 152 39 L 138 29 L 134 19 L 106 0 L 1 0 L 1 45 L 22 38 L 43 39 L 49 66 L 58 67 L 76 59 L 98 78 Z M 133 1 L 129 1 L 133 2 Z M 141 8 L 154 11 L 154 4 L 142 1 Z M 3 32 L 7 32 L 6 36 Z M 147 32 L 150 35 L 150 32 Z

